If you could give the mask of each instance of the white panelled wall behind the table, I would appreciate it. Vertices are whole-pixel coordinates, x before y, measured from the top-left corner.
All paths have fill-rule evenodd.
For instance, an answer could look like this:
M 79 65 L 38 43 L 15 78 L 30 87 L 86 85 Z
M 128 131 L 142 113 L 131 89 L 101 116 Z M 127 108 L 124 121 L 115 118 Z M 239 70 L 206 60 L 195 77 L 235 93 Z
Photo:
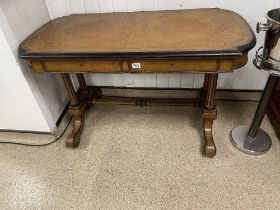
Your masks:
M 45 0 L 52 19 L 72 13 L 133 12 L 147 10 L 177 10 L 202 7 L 220 7 L 241 14 L 255 29 L 265 13 L 280 7 L 280 0 Z M 257 35 L 258 45 L 263 33 Z M 263 89 L 267 75 L 257 71 L 252 59 L 257 49 L 249 54 L 248 64 L 234 74 L 223 74 L 218 87 L 222 89 Z M 87 77 L 92 85 L 126 87 L 199 88 L 203 75 L 191 74 L 92 74 Z

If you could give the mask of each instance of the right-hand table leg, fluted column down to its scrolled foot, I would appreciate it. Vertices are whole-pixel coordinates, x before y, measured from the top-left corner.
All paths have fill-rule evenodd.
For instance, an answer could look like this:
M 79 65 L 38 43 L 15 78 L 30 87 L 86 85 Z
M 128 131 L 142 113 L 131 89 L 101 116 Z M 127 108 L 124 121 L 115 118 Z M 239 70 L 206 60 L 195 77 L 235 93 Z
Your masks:
M 205 74 L 202 94 L 202 120 L 205 136 L 203 149 L 208 157 L 213 157 L 216 154 L 216 146 L 213 140 L 212 126 L 213 121 L 217 119 L 217 110 L 215 105 L 217 80 L 218 74 Z

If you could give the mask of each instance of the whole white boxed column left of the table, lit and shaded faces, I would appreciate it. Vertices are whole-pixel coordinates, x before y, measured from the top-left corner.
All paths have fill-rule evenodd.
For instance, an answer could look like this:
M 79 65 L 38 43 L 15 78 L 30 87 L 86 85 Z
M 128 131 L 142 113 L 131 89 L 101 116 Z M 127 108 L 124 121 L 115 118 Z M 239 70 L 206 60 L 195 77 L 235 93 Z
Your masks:
M 1 0 L 0 17 L 7 51 L 0 58 L 0 129 L 51 132 L 67 99 L 62 80 L 59 75 L 33 73 L 17 56 L 19 44 L 50 20 L 46 4 Z

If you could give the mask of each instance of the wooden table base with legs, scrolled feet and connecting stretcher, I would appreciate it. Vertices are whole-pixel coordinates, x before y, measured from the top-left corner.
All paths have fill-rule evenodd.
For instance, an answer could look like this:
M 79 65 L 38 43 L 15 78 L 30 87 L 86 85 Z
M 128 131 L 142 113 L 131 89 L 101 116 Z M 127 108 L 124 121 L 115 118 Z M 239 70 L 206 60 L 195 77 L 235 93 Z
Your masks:
M 83 132 L 85 111 L 92 104 L 119 104 L 133 106 L 201 106 L 202 121 L 204 128 L 205 143 L 203 150 L 208 157 L 216 154 L 216 146 L 212 135 L 213 121 L 217 118 L 215 106 L 215 93 L 218 74 L 205 74 L 204 86 L 201 89 L 199 99 L 152 99 L 152 98 L 123 98 L 123 97 L 103 97 L 100 88 L 86 85 L 84 76 L 76 74 L 80 89 L 75 91 L 69 74 L 62 74 L 65 87 L 70 98 L 69 115 L 74 118 L 72 132 L 66 140 L 67 147 L 76 148 L 80 144 L 80 137 Z

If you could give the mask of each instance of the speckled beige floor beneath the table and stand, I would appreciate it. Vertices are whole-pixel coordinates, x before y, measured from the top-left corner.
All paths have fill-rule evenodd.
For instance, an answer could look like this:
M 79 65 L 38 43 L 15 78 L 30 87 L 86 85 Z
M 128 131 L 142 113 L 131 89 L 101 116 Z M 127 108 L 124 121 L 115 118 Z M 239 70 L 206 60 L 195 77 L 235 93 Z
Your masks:
M 48 147 L 0 145 L 0 208 L 279 209 L 280 146 L 267 118 L 267 154 L 243 154 L 229 141 L 256 105 L 218 101 L 214 158 L 201 154 L 198 108 L 92 107 L 75 150 L 65 147 L 66 135 Z M 0 141 L 52 138 L 0 133 Z

